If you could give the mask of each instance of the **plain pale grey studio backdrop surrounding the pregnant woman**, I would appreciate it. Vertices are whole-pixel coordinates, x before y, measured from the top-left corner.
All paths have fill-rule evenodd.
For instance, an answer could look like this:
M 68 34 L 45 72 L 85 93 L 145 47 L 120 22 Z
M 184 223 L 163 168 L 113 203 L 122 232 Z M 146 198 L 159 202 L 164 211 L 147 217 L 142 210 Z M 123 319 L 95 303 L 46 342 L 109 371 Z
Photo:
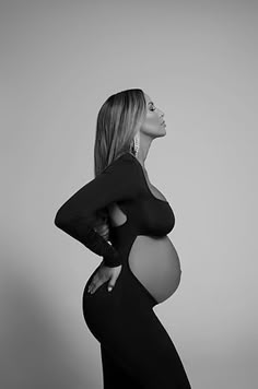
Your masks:
M 145 163 L 181 282 L 154 308 L 192 389 L 257 387 L 255 1 L 0 4 L 0 387 L 99 389 L 82 314 L 97 257 L 54 225 L 93 178 L 96 116 L 140 87 L 165 113 Z

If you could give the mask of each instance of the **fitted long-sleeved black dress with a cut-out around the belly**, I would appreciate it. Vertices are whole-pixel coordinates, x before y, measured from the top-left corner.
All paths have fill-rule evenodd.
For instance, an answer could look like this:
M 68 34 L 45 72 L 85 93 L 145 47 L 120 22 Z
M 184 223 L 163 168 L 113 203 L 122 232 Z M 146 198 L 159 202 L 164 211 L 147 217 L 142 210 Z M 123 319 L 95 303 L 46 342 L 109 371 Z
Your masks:
M 93 225 L 96 212 L 113 202 L 127 221 L 110 228 L 109 244 Z M 159 303 L 128 262 L 138 235 L 164 236 L 175 225 L 168 202 L 150 191 L 140 162 L 129 152 L 119 156 L 64 202 L 55 225 L 103 257 L 106 266 L 122 264 L 112 292 L 106 282 L 87 293 L 99 264 L 82 296 L 85 322 L 101 344 L 104 389 L 190 389 L 175 345 L 152 309 Z

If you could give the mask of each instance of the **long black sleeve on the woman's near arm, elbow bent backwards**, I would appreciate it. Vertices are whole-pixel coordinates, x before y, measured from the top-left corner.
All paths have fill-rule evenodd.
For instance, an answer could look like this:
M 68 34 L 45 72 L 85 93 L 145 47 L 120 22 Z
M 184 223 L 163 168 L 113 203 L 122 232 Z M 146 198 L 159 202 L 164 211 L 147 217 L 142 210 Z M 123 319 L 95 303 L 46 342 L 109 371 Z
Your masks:
M 132 158 L 118 157 L 61 205 L 55 225 L 103 257 L 106 266 L 121 264 L 117 249 L 95 232 L 93 225 L 96 211 L 115 201 L 137 198 L 136 178 L 137 166 Z

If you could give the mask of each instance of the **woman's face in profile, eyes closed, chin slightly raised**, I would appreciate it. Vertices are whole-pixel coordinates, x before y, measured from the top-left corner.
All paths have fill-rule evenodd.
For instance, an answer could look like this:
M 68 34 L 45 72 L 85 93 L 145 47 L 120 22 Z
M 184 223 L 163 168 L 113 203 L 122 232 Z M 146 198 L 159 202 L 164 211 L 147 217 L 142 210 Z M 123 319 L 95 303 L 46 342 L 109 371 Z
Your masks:
M 141 127 L 141 132 L 152 137 L 163 137 L 166 134 L 164 113 L 155 106 L 150 96 L 144 93 L 146 102 L 146 117 Z

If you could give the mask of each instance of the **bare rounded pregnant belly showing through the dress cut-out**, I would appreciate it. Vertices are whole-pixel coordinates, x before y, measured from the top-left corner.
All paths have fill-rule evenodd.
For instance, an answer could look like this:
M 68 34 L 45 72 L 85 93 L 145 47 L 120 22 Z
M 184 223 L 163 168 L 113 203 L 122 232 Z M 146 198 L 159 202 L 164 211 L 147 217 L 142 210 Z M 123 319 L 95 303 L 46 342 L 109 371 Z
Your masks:
M 168 236 L 138 235 L 128 263 L 131 272 L 157 303 L 167 299 L 180 282 L 180 261 Z

